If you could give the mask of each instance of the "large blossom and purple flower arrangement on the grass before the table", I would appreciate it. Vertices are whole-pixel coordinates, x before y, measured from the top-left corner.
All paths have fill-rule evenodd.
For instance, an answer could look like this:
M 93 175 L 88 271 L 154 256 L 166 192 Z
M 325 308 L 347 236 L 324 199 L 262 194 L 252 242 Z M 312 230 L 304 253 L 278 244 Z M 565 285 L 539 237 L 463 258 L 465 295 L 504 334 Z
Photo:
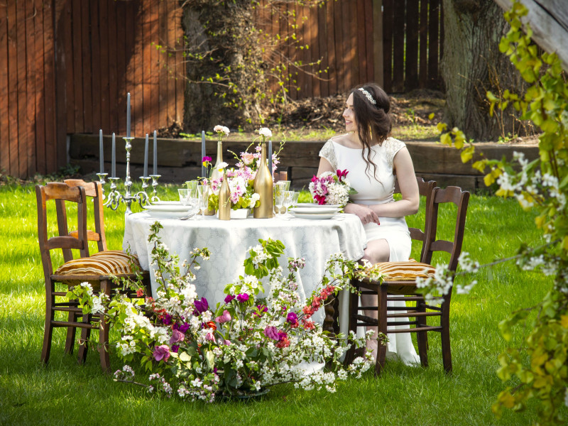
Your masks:
M 116 343 L 126 362 L 139 362 L 151 372 L 146 383 L 134 381 L 134 370 L 126 365 L 115 380 L 145 386 L 148 391 L 180 398 L 212 402 L 219 395 L 244 395 L 279 383 L 295 383 L 296 388 L 326 388 L 334 391 L 337 380 L 349 375 L 360 377 L 372 364 L 367 353 L 349 366 L 339 358 L 349 345 L 342 336 L 332 339 L 312 320 L 327 297 L 349 288 L 349 280 L 365 266 L 346 261 L 341 254 L 327 261 L 320 290 L 302 303 L 297 293 L 296 274 L 304 266 L 301 258 L 288 259 L 288 273 L 278 263 L 284 246 L 280 241 L 259 240 L 249 248 L 245 275 L 226 286 L 223 302 L 212 307 L 197 296 L 197 258 L 207 259 L 207 249 L 195 249 L 180 269 L 179 259 L 161 243 L 159 222 L 151 227 L 148 241 L 153 244 L 152 261 L 159 289 L 157 297 L 146 297 L 139 305 L 126 295 L 114 295 L 107 316 L 119 330 Z M 339 272 L 338 272 L 339 271 Z M 265 293 L 261 279 L 270 283 Z M 88 305 L 84 288 L 73 296 Z M 138 288 L 138 292 L 140 292 Z M 259 298 L 261 293 L 266 298 Z M 364 339 L 350 336 L 361 346 Z M 302 363 L 327 363 L 331 370 L 308 372 Z M 305 365 L 305 364 L 304 364 Z

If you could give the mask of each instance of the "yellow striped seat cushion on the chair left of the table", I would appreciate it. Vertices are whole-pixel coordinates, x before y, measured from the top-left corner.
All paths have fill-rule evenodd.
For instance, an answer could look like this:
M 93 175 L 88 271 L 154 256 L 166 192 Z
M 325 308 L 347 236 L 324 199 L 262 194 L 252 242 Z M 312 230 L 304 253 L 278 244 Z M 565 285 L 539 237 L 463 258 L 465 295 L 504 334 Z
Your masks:
M 124 276 L 133 273 L 132 266 L 140 268 L 138 258 L 134 255 L 118 250 L 99 251 L 88 258 L 77 258 L 63 263 L 54 275 L 88 275 L 89 277 L 99 276 Z M 63 280 L 69 285 L 77 285 L 84 280 Z M 93 282 L 87 280 L 89 283 Z

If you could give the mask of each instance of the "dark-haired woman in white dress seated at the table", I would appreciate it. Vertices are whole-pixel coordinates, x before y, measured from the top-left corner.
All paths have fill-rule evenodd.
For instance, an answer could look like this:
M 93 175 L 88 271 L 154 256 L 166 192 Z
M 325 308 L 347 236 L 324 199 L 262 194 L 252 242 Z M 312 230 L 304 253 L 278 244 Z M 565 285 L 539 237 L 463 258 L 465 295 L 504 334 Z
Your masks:
M 420 203 L 410 153 L 403 142 L 389 137 L 389 109 L 388 95 L 377 84 L 352 89 L 343 112 L 347 133 L 327 141 L 317 170 L 318 175 L 348 170 L 347 179 L 357 194 L 351 195 L 344 211 L 361 219 L 367 235 L 364 258 L 371 263 L 408 261 L 411 241 L 404 217 L 415 214 Z M 395 175 L 402 195 L 398 201 L 393 200 Z M 363 295 L 361 304 L 376 306 L 377 297 Z M 366 311 L 365 315 L 376 318 L 377 312 Z M 388 338 L 387 356 L 398 356 L 406 364 L 420 361 L 410 334 Z M 368 340 L 367 347 L 376 356 L 376 339 Z

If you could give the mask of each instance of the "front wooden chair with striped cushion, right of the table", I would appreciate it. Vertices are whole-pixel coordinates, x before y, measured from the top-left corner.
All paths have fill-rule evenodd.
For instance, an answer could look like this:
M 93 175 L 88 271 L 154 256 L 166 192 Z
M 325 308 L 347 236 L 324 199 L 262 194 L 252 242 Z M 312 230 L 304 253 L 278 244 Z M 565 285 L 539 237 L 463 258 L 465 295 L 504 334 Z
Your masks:
M 379 268 L 386 278 L 383 283 L 364 280 L 353 280 L 352 284 L 359 290 L 370 291 L 378 297 L 378 307 L 359 307 L 359 297 L 351 293 L 349 302 L 349 329 L 356 330 L 359 326 L 376 326 L 378 332 L 383 334 L 392 333 L 417 333 L 418 354 L 422 366 L 428 365 L 427 359 L 427 332 L 439 332 L 442 339 L 442 361 L 444 371 L 452 371 L 452 353 L 449 342 L 449 307 L 452 298 L 452 288 L 444 295 L 441 306 L 427 305 L 424 297 L 417 293 L 416 278 L 431 276 L 435 268 L 431 266 L 432 256 L 435 252 L 444 251 L 449 253 L 449 270 L 456 271 L 461 244 L 464 238 L 469 192 L 462 191 L 459 187 L 447 187 L 442 190 L 435 188 L 430 203 L 427 204 L 427 223 L 422 249 L 421 262 L 384 262 L 378 263 Z M 453 203 L 457 207 L 456 222 L 453 241 L 436 239 L 438 212 L 441 204 Z M 413 236 L 413 238 L 415 238 Z M 399 300 L 412 302 L 414 307 L 388 307 L 387 300 Z M 360 310 L 378 309 L 378 320 L 359 314 Z M 405 312 L 396 312 L 396 311 Z M 391 312 L 395 313 L 391 313 Z M 427 324 L 427 317 L 439 317 L 439 325 Z M 414 318 L 415 320 L 410 320 Z M 405 321 L 401 321 L 405 320 Z M 414 326 L 405 329 L 389 329 L 390 326 L 409 325 Z M 346 356 L 350 361 L 354 357 L 354 349 Z M 386 359 L 386 345 L 378 345 L 378 354 L 375 373 L 381 373 Z

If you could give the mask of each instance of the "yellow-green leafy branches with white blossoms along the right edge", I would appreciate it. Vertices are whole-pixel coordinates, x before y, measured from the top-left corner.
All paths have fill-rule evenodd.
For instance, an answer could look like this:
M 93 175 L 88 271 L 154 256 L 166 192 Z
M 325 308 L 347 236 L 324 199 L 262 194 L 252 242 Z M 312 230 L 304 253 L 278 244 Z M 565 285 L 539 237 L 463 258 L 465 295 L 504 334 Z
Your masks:
M 530 329 L 524 345 L 507 349 L 499 361 L 498 376 L 509 383 L 493 405 L 497 415 L 503 408 L 524 410 L 528 400 L 540 400 L 540 425 L 564 425 L 560 408 L 568 405 L 568 84 L 555 53 L 539 55 L 532 44 L 532 31 L 521 18 L 527 14 L 519 1 L 505 13 L 510 31 L 501 39 L 499 48 L 510 58 L 523 79 L 530 84 L 524 96 L 503 92 L 503 97 L 488 93 L 491 113 L 495 108 L 513 107 L 524 120 L 531 120 L 542 130 L 540 158 L 525 160 L 515 153 L 512 164 L 505 160 L 481 158 L 474 168 L 484 171 L 486 185 L 496 182 L 496 195 L 515 197 L 523 209 L 536 209 L 535 225 L 542 232 L 545 246 L 530 249 L 522 246 L 518 265 L 523 269 L 540 269 L 554 278 L 554 288 L 542 302 L 527 310 L 519 310 L 501 322 L 503 337 L 510 341 L 513 326 L 525 323 Z M 452 136 L 454 140 L 452 141 Z M 464 162 L 474 156 L 474 146 L 465 143 L 464 133 L 452 129 L 442 142 L 461 149 Z M 528 320 L 531 311 L 537 312 Z M 525 362 L 528 356 L 530 362 Z

